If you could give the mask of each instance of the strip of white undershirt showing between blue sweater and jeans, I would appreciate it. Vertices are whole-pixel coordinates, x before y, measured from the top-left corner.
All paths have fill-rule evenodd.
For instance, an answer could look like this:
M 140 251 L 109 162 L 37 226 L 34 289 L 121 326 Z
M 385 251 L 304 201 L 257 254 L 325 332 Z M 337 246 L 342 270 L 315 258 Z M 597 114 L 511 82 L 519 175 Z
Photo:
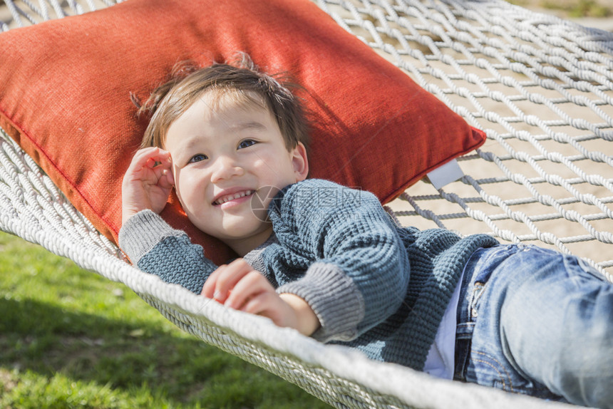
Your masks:
M 423 367 L 424 372 L 437 378 L 453 379 L 453 372 L 455 371 L 455 327 L 458 326 L 456 314 L 463 276 L 464 272 L 460 274 L 460 280 L 453 290 L 441 324 L 436 331 L 434 343 L 428 352 L 426 365 Z

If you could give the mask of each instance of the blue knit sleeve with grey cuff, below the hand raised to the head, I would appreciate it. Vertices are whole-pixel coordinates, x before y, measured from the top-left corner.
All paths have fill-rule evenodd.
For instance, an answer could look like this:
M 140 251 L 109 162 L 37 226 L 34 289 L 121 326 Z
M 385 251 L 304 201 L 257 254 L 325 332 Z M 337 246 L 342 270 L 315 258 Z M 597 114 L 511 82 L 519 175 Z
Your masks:
M 119 232 L 119 247 L 139 269 L 195 294 L 200 294 L 207 277 L 217 269 L 185 232 L 172 229 L 150 210 L 125 222 Z

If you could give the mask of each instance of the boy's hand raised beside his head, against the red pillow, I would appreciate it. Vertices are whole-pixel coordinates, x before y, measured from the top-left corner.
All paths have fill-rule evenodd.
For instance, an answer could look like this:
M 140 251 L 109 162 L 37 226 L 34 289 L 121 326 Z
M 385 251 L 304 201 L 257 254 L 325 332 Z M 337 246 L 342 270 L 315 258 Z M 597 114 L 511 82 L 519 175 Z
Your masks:
M 159 147 L 138 150 L 121 185 L 121 223 L 144 209 L 160 213 L 175 184 L 170 152 Z

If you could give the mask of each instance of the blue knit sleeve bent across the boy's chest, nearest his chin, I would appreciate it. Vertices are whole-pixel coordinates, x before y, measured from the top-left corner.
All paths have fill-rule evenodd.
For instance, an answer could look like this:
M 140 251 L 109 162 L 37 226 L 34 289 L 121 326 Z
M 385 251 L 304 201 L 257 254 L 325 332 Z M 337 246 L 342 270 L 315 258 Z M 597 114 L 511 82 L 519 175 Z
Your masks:
M 313 309 L 321 323 L 314 338 L 350 341 L 401 306 L 408 258 L 374 195 L 306 180 L 282 191 L 269 216 L 284 246 L 313 261 L 278 291 L 300 296 Z

